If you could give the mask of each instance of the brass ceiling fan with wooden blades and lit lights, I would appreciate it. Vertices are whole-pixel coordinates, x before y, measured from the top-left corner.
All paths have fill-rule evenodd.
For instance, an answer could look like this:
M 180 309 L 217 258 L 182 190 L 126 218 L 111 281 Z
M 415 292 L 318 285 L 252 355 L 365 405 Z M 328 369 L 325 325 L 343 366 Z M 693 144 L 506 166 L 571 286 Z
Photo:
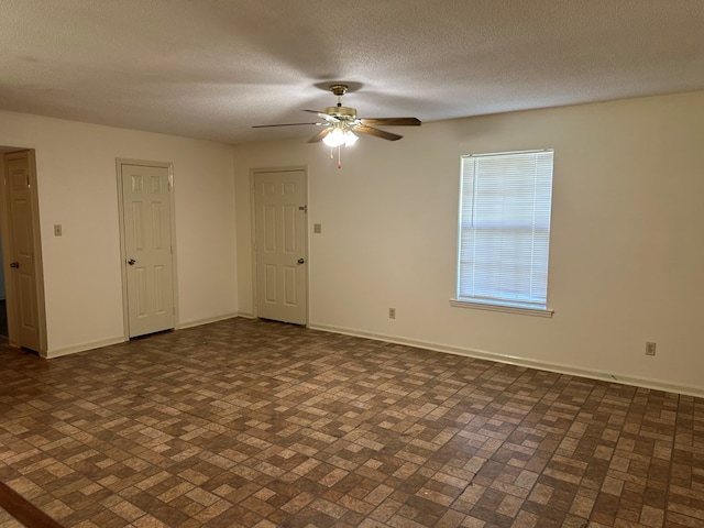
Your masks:
M 385 130 L 376 129 L 375 127 L 419 127 L 420 120 L 418 118 L 359 118 L 356 109 L 342 106 L 342 96 L 348 92 L 346 85 L 331 85 L 330 91 L 338 97 L 338 105 L 334 107 L 327 107 L 322 111 L 318 110 L 304 110 L 317 114 L 322 121 L 314 121 L 307 123 L 282 123 L 282 124 L 257 124 L 252 127 L 253 129 L 264 129 L 270 127 L 298 127 L 306 124 L 315 124 L 317 127 L 324 127 L 316 135 L 314 135 L 308 143 L 318 143 L 322 141 L 330 147 L 341 147 L 353 145 L 358 136 L 354 132 L 362 134 L 373 135 L 388 141 L 397 141 L 403 138 Z M 338 166 L 340 164 L 338 163 Z

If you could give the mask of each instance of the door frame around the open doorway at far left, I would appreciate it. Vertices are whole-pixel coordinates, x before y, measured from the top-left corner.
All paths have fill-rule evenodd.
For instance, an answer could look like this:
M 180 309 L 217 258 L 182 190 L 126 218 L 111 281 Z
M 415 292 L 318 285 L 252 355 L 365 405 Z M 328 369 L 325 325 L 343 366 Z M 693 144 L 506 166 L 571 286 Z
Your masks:
M 47 358 L 47 337 L 46 337 L 46 302 L 44 293 L 44 262 L 42 258 L 42 235 L 40 223 L 40 200 L 38 200 L 38 187 L 36 177 L 36 153 L 34 148 L 22 147 L 2 147 L 0 154 L 12 154 L 15 152 L 26 152 L 28 163 L 30 166 L 30 200 L 32 206 L 32 251 L 34 256 L 34 276 L 36 280 L 36 311 L 37 311 L 37 324 L 38 324 L 38 339 L 40 350 L 38 354 L 42 358 Z M 14 289 L 14 282 L 12 275 L 8 272 L 10 270 L 10 262 L 14 254 L 14 244 L 12 243 L 12 231 L 10 229 L 10 210 L 8 204 L 8 190 L 7 190 L 7 174 L 4 174 L 4 160 L 0 164 L 0 243 L 2 243 L 2 266 L 6 271 L 6 306 L 8 308 L 8 343 L 10 346 L 20 346 L 18 341 L 20 320 L 16 312 L 18 297 Z

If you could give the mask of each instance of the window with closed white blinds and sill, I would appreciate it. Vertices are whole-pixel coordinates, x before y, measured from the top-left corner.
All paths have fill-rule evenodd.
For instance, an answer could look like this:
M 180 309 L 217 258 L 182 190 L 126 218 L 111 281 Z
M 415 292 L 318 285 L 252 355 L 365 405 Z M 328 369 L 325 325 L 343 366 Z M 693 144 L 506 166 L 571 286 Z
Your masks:
M 453 306 L 552 315 L 547 309 L 552 154 L 462 156 Z

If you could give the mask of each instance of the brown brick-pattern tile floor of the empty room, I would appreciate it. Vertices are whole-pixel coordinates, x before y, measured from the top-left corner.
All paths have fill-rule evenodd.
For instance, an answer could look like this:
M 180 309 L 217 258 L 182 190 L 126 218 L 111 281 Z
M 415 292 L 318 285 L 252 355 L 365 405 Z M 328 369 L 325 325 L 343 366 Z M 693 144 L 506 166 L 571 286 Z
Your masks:
M 231 319 L 0 346 L 0 482 L 66 528 L 694 528 L 704 400 Z

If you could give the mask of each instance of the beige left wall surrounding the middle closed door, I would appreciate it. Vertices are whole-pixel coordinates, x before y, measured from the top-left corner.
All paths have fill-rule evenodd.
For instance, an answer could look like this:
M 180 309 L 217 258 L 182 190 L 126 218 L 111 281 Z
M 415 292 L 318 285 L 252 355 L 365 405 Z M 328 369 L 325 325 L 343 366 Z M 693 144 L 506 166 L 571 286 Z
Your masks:
M 174 164 L 179 326 L 237 312 L 231 146 L 6 112 L 0 145 L 36 150 L 48 355 L 123 338 L 117 157 Z

